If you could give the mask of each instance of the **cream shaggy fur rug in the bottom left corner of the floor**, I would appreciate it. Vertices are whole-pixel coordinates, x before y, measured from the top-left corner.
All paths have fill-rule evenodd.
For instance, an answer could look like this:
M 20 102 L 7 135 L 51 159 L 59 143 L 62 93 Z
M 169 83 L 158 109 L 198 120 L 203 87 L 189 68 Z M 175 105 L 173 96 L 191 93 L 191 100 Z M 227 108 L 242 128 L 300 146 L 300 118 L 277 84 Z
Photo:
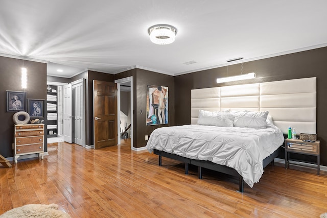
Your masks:
M 67 213 L 58 210 L 56 204 L 27 204 L 21 207 L 11 209 L 4 214 L 0 215 L 0 218 L 69 218 Z

